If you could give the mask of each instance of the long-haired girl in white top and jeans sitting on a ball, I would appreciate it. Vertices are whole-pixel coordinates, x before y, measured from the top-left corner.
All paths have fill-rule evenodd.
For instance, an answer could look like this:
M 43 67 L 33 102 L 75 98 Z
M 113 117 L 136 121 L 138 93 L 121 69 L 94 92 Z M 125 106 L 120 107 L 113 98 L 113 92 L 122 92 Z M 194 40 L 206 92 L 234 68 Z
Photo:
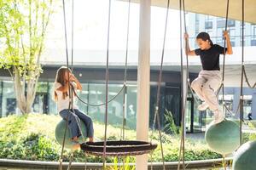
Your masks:
M 69 82 L 68 82 L 69 81 Z M 71 71 L 65 66 L 57 71 L 54 83 L 54 99 L 57 104 L 57 109 L 60 116 L 68 121 L 68 127 L 71 131 L 73 150 L 79 149 L 79 136 L 82 132 L 79 129 L 79 121 L 84 122 L 87 130 L 87 137 L 90 142 L 93 142 L 93 122 L 90 116 L 87 116 L 82 111 L 79 111 L 79 107 L 75 104 L 76 93 L 73 93 L 73 102 L 70 102 L 69 98 L 69 86 L 72 86 L 72 90 L 82 90 L 82 85 L 76 77 L 73 76 Z M 73 104 L 70 104 L 73 103 Z M 69 105 L 73 113 L 69 112 Z

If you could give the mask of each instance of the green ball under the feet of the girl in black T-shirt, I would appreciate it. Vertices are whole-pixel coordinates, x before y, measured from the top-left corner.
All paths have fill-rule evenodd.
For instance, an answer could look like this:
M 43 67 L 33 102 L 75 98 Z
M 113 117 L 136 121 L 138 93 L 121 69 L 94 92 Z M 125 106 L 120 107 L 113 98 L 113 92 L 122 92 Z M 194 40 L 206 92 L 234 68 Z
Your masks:
M 218 124 L 212 122 L 207 127 L 205 139 L 211 150 L 225 156 L 239 147 L 239 134 L 239 126 L 236 122 L 224 120 Z

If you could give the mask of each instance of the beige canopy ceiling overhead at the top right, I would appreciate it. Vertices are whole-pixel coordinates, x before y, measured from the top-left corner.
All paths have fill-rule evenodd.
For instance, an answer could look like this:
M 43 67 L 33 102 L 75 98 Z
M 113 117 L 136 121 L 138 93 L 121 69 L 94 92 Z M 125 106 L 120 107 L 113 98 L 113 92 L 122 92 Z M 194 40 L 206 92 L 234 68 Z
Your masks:
M 127 1 L 127 0 L 125 0 Z M 131 0 L 139 3 L 140 0 Z M 197 14 L 225 17 L 227 0 L 185 0 L 185 9 Z M 166 7 L 167 0 L 151 0 L 152 6 Z M 179 0 L 171 0 L 170 8 L 179 9 Z M 241 0 L 230 0 L 229 19 L 241 20 Z M 245 21 L 256 24 L 256 1 L 245 0 Z

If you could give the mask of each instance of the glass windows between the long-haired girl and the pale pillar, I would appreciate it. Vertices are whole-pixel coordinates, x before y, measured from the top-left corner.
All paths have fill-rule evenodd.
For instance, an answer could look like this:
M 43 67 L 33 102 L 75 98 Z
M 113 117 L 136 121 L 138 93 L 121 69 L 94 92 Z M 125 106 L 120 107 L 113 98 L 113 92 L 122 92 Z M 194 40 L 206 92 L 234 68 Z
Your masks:
M 108 100 L 113 99 L 119 93 L 122 84 L 108 85 Z M 89 83 L 87 90 L 84 91 L 84 96 L 88 103 L 99 105 L 105 103 L 105 84 Z M 123 99 L 124 94 L 121 92 L 116 98 L 108 103 L 108 123 L 120 126 L 123 123 Z M 127 101 L 126 101 L 126 126 L 136 128 L 136 111 L 137 111 L 137 87 L 127 87 Z M 85 107 L 86 108 L 86 107 Z M 105 105 L 102 106 L 88 106 L 87 114 L 90 115 L 97 122 L 104 122 Z

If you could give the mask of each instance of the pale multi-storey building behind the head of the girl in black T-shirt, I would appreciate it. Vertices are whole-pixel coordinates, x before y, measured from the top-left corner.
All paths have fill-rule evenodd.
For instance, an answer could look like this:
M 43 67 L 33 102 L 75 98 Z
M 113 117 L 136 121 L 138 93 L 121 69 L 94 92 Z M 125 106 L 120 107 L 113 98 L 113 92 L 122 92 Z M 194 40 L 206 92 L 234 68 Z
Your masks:
M 190 37 L 196 37 L 201 31 L 206 31 L 212 37 L 212 42 L 224 44 L 223 31 L 225 29 L 225 18 L 214 17 L 204 14 L 187 14 L 188 31 Z M 228 20 L 227 30 L 230 32 L 230 42 L 233 47 L 241 47 L 242 23 L 239 20 Z M 256 46 L 256 25 L 245 23 L 244 45 Z M 192 47 L 197 47 L 192 43 Z

